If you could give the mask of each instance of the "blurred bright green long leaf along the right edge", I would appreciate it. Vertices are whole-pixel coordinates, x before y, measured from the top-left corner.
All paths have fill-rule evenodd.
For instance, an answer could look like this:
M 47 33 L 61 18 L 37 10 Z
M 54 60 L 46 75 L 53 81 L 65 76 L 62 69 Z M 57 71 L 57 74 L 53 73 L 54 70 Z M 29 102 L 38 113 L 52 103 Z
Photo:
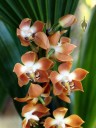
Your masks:
M 75 112 L 85 121 L 84 128 L 95 128 L 96 124 L 96 7 L 80 48 L 78 67 L 89 71 L 83 81 L 84 93 L 75 96 Z

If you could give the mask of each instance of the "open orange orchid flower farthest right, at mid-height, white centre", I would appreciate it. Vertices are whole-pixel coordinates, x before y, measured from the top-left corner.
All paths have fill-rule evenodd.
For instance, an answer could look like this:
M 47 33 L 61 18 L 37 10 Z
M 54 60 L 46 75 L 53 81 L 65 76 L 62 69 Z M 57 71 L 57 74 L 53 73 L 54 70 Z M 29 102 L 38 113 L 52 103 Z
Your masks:
M 66 95 L 70 95 L 71 92 L 80 90 L 83 91 L 82 83 L 80 82 L 85 78 L 88 71 L 77 68 L 72 73 L 70 69 L 72 62 L 65 62 L 59 65 L 58 72 L 52 71 L 50 79 L 53 83 L 53 93 L 60 99 L 70 102 Z

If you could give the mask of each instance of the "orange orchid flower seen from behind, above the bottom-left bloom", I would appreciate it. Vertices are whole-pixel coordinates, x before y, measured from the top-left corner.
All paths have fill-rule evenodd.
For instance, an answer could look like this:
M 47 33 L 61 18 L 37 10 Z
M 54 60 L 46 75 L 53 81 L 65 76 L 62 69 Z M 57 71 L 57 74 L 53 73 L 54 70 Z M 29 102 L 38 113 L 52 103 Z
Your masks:
M 44 101 L 43 101 L 44 98 Z M 48 105 L 51 102 L 51 96 L 50 96 L 50 85 L 49 83 L 44 83 L 43 87 L 38 84 L 32 84 L 30 85 L 28 89 L 28 93 L 26 97 L 24 98 L 14 98 L 15 100 L 19 102 L 30 102 L 32 104 L 38 103 L 38 100 L 42 100 L 41 103 L 43 105 Z

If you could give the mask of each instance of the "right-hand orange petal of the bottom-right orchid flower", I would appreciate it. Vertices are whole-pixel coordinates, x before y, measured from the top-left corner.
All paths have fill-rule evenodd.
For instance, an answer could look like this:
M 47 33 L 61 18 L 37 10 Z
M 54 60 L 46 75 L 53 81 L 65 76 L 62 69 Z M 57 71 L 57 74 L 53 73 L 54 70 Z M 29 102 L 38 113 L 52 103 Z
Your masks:
M 65 118 L 65 124 L 72 126 L 72 127 L 80 127 L 84 121 L 77 115 L 71 115 Z

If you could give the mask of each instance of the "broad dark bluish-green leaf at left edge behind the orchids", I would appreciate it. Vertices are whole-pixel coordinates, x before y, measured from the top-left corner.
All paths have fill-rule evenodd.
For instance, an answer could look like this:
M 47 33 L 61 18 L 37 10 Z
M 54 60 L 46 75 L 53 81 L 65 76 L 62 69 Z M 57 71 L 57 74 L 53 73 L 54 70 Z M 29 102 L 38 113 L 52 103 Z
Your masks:
M 0 22 L 0 84 L 9 92 L 12 98 L 24 97 L 27 87 L 18 86 L 17 77 L 12 72 L 16 62 L 20 62 L 22 53 L 27 51 L 20 46 L 16 36 L 10 35 L 6 26 Z M 16 43 L 14 43 L 15 41 Z M 3 96 L 3 95 L 2 95 Z M 15 102 L 16 107 L 21 113 L 22 104 Z

